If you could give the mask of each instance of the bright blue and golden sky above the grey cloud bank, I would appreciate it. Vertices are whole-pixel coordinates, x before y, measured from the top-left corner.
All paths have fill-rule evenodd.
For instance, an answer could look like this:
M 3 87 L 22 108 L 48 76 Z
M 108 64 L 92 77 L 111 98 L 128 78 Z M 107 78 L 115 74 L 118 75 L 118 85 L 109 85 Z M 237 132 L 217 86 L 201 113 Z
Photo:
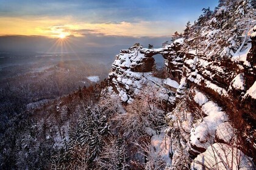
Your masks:
M 215 0 L 216 1 L 216 0 Z M 169 36 L 213 1 L 0 0 L 0 35 Z M 218 1 L 216 1 L 218 2 Z

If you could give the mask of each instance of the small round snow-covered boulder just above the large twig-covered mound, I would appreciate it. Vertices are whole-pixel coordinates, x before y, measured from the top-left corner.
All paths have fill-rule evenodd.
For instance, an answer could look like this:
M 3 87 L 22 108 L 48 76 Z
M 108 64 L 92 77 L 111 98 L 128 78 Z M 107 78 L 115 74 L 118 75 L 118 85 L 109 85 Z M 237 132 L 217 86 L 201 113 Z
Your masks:
M 229 122 L 221 123 L 216 130 L 216 138 L 229 143 L 235 137 L 235 129 Z

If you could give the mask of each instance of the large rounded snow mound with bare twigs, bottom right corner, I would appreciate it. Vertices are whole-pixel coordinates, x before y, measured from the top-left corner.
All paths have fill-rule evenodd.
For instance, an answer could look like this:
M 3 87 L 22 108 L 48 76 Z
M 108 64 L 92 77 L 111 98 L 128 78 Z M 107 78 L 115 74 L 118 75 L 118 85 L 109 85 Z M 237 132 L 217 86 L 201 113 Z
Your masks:
M 254 165 L 240 149 L 223 143 L 209 146 L 205 152 L 197 155 L 191 164 L 193 170 L 203 169 L 244 169 L 252 170 Z

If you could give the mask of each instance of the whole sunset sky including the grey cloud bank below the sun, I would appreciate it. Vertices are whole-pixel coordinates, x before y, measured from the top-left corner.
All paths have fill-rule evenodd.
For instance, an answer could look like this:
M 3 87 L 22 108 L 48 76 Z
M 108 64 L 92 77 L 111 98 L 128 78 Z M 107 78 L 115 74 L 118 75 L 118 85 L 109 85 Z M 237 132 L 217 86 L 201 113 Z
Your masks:
M 52 39 L 59 38 L 66 43 L 69 39 L 76 50 L 88 50 L 139 41 L 160 45 L 176 30 L 182 32 L 187 21 L 196 20 L 204 7 L 213 10 L 218 0 L 0 0 L 0 4 L 0 50 L 49 50 Z

